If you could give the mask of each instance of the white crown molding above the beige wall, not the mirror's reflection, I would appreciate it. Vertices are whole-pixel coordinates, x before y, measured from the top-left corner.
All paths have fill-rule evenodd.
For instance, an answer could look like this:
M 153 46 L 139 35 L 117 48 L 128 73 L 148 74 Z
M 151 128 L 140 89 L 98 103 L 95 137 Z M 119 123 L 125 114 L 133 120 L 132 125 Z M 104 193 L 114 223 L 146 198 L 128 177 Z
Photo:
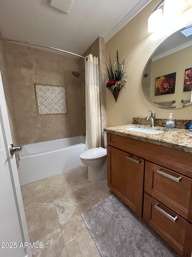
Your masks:
M 135 17 L 152 0 L 140 0 L 140 2 L 104 37 L 105 43 L 122 29 L 133 17 Z

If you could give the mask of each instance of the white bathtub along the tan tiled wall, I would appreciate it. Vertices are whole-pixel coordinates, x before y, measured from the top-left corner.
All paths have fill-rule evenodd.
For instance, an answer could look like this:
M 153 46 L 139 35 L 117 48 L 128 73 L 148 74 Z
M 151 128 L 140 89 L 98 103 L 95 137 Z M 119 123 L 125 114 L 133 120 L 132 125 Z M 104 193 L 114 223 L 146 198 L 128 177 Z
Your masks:
M 19 181 L 25 185 L 82 166 L 85 136 L 74 136 L 22 146 Z

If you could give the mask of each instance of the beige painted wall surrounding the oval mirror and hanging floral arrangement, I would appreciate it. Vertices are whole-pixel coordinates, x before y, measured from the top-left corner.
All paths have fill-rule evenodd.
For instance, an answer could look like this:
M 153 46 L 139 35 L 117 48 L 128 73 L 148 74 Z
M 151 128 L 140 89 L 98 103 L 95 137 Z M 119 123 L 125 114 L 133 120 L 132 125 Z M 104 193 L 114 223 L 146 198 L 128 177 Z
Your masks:
M 145 98 L 142 90 L 142 74 L 145 65 L 157 48 L 157 46 L 167 36 L 176 30 L 189 25 L 192 20 L 188 20 L 190 15 L 187 13 L 180 15 L 174 24 L 166 26 L 156 33 L 149 34 L 147 30 L 148 18 L 160 0 L 150 2 L 139 14 L 137 14 L 125 27 L 123 27 L 106 45 L 106 63 L 111 51 L 113 64 L 116 61 L 116 51 L 118 49 L 119 59 L 127 56 L 132 59 L 126 65 L 126 71 L 130 73 L 130 82 L 126 80 L 126 88 L 121 89 L 117 103 L 110 91 L 107 90 L 107 126 L 131 124 L 133 117 L 146 117 L 149 109 L 156 112 L 157 118 L 167 118 L 170 110 L 161 109 L 150 104 Z M 188 11 L 190 12 L 190 10 Z M 192 106 L 172 109 L 174 118 L 191 119 Z

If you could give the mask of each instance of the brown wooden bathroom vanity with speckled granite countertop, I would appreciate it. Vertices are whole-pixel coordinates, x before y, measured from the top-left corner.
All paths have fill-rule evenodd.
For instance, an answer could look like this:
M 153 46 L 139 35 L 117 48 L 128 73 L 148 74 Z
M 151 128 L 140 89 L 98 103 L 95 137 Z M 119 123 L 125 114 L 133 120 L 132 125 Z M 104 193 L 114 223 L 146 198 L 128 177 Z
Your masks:
M 156 135 L 107 131 L 108 186 L 182 256 L 192 251 L 192 137 L 188 130 Z M 150 129 L 150 127 L 149 127 Z

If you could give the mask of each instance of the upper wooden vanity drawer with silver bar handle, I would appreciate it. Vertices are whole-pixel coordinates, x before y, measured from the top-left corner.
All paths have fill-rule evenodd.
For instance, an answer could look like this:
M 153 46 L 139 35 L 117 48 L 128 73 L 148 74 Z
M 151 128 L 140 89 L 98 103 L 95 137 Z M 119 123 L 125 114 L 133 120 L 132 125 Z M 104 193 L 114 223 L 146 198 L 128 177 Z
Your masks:
M 144 191 L 192 222 L 192 179 L 146 161 Z

